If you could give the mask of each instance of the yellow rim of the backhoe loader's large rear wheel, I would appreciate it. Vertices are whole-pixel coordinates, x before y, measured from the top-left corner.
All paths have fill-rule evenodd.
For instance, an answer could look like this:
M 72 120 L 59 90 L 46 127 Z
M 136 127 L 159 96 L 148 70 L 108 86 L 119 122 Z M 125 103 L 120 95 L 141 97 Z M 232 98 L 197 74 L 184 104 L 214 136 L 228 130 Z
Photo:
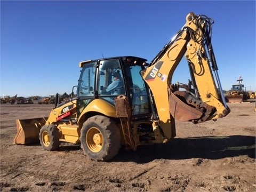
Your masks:
M 87 131 L 86 144 L 93 153 L 98 153 L 102 149 L 103 138 L 99 129 L 91 127 Z

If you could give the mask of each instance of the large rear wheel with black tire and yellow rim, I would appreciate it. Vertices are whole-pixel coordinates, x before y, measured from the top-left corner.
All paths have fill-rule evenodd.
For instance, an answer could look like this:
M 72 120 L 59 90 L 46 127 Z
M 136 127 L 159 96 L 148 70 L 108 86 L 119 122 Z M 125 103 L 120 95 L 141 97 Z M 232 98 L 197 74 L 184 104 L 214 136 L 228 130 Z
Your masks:
M 108 161 L 117 155 L 121 147 L 116 123 L 101 115 L 90 117 L 84 122 L 80 141 L 84 154 L 95 161 Z

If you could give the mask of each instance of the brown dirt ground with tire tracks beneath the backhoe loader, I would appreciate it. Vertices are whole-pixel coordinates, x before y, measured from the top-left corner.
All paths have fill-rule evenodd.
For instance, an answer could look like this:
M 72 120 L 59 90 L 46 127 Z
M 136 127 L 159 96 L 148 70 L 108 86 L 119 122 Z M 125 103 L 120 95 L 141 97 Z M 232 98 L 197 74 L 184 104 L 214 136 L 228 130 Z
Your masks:
M 109 162 L 80 147 L 14 145 L 15 119 L 48 116 L 54 105 L 1 104 L 1 191 L 256 191 L 254 102 L 228 103 L 217 122 L 176 122 L 170 143 L 121 148 Z

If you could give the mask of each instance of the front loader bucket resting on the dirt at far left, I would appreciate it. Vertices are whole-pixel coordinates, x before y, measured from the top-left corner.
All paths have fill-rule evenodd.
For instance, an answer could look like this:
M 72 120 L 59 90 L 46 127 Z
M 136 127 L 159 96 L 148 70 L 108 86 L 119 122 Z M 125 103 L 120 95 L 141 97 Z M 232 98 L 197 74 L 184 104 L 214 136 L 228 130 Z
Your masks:
M 15 144 L 28 144 L 39 141 L 39 130 L 45 125 L 48 117 L 32 119 L 16 119 L 17 134 L 13 140 Z

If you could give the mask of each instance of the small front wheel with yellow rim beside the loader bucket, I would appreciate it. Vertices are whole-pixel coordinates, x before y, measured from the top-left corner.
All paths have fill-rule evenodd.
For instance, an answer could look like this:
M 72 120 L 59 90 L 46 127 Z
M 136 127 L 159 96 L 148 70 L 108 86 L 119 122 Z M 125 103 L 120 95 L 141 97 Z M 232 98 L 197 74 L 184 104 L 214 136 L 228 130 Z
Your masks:
M 60 146 L 60 136 L 56 125 L 44 125 L 39 132 L 39 140 L 45 150 L 55 150 Z

